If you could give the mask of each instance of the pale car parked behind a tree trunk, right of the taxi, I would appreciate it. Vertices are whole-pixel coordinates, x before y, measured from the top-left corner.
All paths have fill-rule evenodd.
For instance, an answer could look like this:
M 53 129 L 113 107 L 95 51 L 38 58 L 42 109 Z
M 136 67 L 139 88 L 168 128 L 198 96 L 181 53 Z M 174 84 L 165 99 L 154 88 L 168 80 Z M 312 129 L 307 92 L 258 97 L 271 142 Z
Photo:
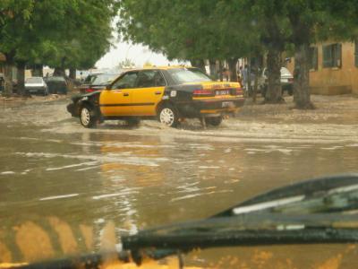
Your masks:
M 294 76 L 286 67 L 281 67 L 281 85 L 282 85 L 282 94 L 285 91 L 289 95 L 294 93 Z M 268 90 L 268 69 L 264 68 L 262 74 L 259 77 L 259 91 L 262 94 L 262 97 L 265 97 L 266 91 Z

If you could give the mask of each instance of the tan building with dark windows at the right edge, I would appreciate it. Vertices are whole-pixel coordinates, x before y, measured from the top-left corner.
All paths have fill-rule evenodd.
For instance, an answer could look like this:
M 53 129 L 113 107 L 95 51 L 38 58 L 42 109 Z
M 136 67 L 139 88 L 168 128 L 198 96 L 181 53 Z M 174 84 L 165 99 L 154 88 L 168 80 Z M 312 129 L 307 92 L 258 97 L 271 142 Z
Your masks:
M 358 94 L 358 42 L 324 42 L 310 49 L 313 94 Z M 294 71 L 294 61 L 287 65 Z

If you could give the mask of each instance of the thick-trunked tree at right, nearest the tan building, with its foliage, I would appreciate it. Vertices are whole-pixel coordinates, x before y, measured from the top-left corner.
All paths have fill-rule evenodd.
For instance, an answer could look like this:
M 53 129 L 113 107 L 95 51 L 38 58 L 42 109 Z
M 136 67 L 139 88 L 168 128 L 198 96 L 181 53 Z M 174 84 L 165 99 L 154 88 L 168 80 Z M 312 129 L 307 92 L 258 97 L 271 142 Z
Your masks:
M 310 98 L 310 54 L 312 43 L 328 39 L 354 39 L 357 28 L 355 1 L 288 1 L 291 42 L 294 44 L 294 103 L 313 108 Z

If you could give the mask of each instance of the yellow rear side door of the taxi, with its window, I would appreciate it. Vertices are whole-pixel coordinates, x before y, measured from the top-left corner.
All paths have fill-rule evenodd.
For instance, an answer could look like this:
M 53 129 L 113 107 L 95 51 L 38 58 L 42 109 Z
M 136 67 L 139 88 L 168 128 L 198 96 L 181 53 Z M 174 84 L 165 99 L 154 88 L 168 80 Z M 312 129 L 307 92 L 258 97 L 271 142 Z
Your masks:
M 133 89 L 133 116 L 156 116 L 165 87 L 166 80 L 160 70 L 140 71 Z

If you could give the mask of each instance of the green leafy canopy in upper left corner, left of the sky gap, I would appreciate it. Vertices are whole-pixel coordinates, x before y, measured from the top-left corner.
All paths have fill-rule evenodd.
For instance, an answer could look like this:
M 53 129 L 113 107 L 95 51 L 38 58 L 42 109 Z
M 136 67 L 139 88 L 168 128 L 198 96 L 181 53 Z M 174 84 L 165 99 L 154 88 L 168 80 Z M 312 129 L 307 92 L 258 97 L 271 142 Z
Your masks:
M 110 47 L 115 0 L 2 0 L 0 51 L 15 61 L 90 68 Z

